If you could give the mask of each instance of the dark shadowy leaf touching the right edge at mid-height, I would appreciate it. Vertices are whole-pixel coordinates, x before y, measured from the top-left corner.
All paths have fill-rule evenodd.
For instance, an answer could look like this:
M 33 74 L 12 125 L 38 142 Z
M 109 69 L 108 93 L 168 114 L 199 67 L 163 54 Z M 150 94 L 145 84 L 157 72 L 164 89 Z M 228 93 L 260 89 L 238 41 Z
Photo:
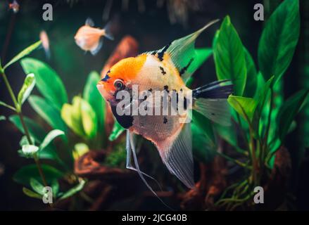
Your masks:
M 308 93 L 309 89 L 298 91 L 296 94 L 284 101 L 282 108 L 280 108 L 277 115 L 277 131 L 281 141 L 284 141 L 284 138 L 289 131 L 289 127 L 291 127 L 291 123 L 300 110 L 303 101 L 305 101 L 305 98 L 308 96 Z

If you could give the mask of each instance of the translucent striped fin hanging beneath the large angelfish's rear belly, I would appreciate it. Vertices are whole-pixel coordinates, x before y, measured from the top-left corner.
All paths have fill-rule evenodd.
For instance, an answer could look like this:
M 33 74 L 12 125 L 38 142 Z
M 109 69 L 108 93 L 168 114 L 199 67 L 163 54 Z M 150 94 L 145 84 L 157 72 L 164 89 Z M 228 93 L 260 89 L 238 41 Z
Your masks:
M 188 188 L 194 188 L 191 124 L 184 124 L 174 141 L 157 147 L 168 170 Z

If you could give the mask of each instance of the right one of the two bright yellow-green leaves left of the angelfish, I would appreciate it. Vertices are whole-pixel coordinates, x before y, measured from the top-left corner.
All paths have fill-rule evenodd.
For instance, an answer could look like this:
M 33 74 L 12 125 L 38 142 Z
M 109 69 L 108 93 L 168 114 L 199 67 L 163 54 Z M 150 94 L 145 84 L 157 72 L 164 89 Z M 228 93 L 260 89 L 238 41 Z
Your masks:
M 84 99 L 81 101 L 80 112 L 82 115 L 82 127 L 84 128 L 84 133 L 87 138 L 93 139 L 96 136 L 97 131 L 96 113 L 94 113 L 92 106 L 89 105 L 87 101 L 84 101 Z

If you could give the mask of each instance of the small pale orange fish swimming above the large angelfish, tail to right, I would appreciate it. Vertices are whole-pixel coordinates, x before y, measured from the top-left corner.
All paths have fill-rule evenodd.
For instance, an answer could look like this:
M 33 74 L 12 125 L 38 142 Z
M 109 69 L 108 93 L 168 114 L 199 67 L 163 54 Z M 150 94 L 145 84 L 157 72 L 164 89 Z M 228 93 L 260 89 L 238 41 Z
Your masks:
M 87 18 L 86 23 L 77 30 L 75 34 L 75 42 L 84 51 L 90 51 L 92 55 L 96 55 L 102 47 L 103 39 L 106 37 L 113 40 L 113 35 L 110 33 L 111 24 L 108 23 L 103 29 L 95 28 L 91 18 Z

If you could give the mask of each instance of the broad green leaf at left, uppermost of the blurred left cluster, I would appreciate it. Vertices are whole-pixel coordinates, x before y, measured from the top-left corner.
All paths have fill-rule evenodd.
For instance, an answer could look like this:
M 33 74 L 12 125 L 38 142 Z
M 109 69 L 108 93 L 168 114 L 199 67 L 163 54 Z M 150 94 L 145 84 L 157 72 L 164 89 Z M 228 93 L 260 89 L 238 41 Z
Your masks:
M 68 95 L 57 73 L 46 63 L 34 58 L 21 60 L 21 65 L 26 74 L 34 74 L 37 89 L 42 96 L 53 103 L 58 110 L 61 110 L 62 105 L 68 102 Z

